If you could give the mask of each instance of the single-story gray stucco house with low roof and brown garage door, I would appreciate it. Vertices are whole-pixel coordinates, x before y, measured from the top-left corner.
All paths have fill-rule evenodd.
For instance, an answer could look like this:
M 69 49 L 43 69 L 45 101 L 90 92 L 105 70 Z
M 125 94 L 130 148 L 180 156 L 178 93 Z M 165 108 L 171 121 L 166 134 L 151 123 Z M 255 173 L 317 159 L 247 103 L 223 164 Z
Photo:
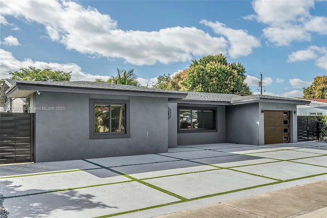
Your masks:
M 190 144 L 297 142 L 296 105 L 308 104 L 85 81 L 7 79 L 0 95 L 0 106 L 26 98 L 35 113 L 36 162 L 153 154 Z

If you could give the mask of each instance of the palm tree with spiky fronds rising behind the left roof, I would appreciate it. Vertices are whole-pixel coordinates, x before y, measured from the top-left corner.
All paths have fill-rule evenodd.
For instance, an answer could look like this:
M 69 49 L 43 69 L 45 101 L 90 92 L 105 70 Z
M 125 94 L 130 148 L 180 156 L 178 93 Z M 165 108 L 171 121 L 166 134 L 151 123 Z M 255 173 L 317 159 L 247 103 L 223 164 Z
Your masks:
M 134 85 L 138 86 L 137 75 L 134 73 L 134 69 L 119 70 L 117 68 L 116 76 L 110 77 L 107 81 L 102 79 L 96 79 L 96 82 L 108 82 L 108 83 L 117 83 L 122 85 Z

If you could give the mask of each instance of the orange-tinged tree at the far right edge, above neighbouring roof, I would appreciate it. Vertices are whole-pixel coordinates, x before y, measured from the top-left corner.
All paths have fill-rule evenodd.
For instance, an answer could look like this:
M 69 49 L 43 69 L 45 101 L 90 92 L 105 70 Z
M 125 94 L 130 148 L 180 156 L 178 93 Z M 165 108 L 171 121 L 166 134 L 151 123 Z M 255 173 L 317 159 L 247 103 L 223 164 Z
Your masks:
M 303 88 L 304 98 L 327 99 L 327 76 L 316 76 L 307 88 Z

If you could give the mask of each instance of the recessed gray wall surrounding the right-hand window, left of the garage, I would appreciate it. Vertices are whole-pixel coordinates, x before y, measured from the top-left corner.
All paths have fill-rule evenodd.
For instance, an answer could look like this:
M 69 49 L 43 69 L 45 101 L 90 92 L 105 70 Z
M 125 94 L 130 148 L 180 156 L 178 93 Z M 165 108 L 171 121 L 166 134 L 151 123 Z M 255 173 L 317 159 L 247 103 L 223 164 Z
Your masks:
M 211 144 L 222 143 L 226 141 L 225 132 L 225 105 L 205 105 L 205 104 L 178 104 L 179 106 L 193 107 L 216 107 L 217 108 L 217 132 L 186 132 L 177 133 L 179 112 L 177 111 L 177 103 L 169 103 L 172 110 L 172 117 L 169 119 L 169 146 L 176 147 L 177 145 L 194 145 L 194 144 Z M 174 117 L 173 117 L 174 116 Z

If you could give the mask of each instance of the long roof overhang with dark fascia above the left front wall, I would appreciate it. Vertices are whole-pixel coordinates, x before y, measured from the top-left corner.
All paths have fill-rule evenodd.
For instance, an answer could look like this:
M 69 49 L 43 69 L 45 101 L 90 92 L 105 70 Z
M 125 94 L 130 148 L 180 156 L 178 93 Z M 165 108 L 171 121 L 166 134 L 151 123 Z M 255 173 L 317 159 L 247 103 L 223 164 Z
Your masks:
M 123 96 L 142 96 L 142 97 L 161 97 L 169 100 L 182 99 L 187 96 L 184 93 L 165 93 L 165 92 L 141 92 L 130 90 L 107 90 L 94 88 L 72 88 L 69 86 L 57 86 L 48 84 L 32 84 L 26 82 L 16 82 L 7 90 L 8 97 L 26 97 L 34 92 L 59 92 L 59 93 L 77 93 L 77 94 L 99 94 L 99 95 L 123 95 Z

